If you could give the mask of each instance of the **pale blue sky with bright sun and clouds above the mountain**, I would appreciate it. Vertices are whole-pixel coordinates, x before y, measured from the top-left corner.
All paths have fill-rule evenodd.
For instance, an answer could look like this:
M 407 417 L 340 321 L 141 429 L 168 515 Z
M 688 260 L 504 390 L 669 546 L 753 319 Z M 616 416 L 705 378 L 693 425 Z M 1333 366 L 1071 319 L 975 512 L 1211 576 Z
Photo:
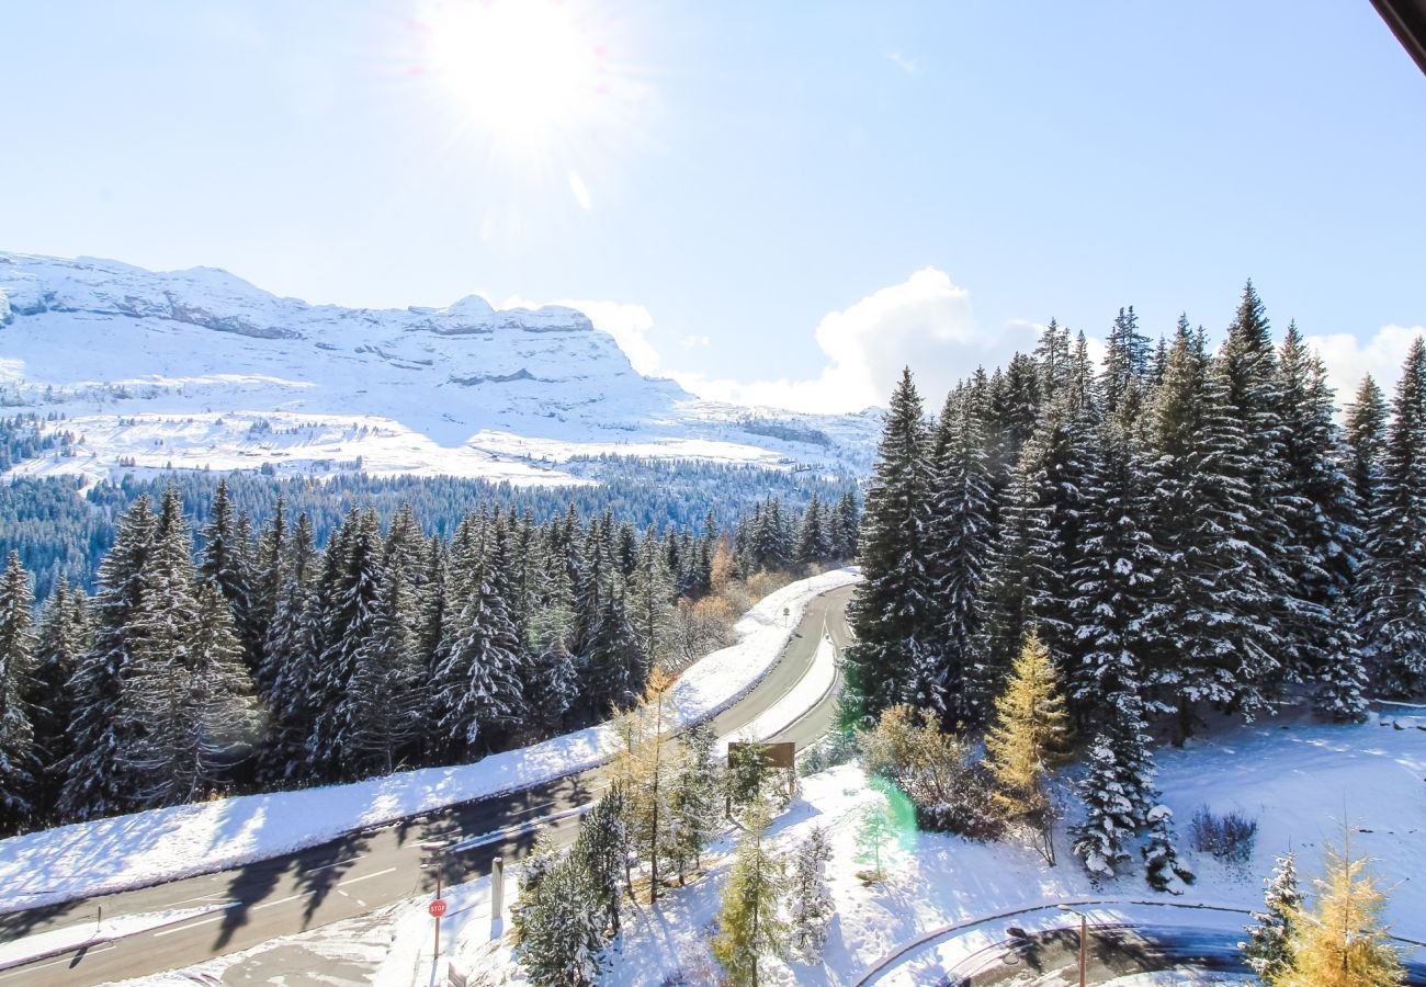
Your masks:
M 646 374 L 928 401 L 1058 319 L 1333 381 L 1426 325 L 1426 77 L 1368 0 L 6 7 L 0 250 L 575 304 Z M 1349 397 L 1349 395 L 1343 395 Z

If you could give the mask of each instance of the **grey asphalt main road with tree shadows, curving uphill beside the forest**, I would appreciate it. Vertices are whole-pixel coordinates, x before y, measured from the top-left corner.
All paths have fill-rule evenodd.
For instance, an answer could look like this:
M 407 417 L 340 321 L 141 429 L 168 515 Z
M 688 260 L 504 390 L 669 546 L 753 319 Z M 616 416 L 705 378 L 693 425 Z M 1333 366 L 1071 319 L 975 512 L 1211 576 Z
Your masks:
M 713 717 L 719 736 L 743 736 L 764 715 L 764 725 L 777 720 L 770 727 L 776 733 L 760 739 L 806 743 L 830 726 L 836 690 L 819 689 L 813 696 L 814 690 L 809 690 L 803 679 L 824 676 L 816 660 L 819 650 L 823 660 L 827 656 L 827 649 L 821 648 L 824 629 L 838 649 L 847 643 L 843 610 L 851 586 L 846 585 L 850 579 L 841 582 L 840 588 L 807 603 L 771 669 L 742 699 Z M 794 696 L 806 696 L 810 703 L 800 716 L 789 707 L 787 700 Z M 10 941 L 70 926 L 93 927 L 98 909 L 106 920 L 183 907 L 210 909 L 190 921 L 96 941 L 3 970 L 0 984 L 78 987 L 140 977 L 366 913 L 431 890 L 435 870 L 421 869 L 422 857 L 428 856 L 421 844 L 428 842 L 465 844 L 459 853 L 445 856 L 442 874 L 446 883 L 471 880 L 489 870 L 492 857 L 509 860 L 528 853 L 539 832 L 572 832 L 579 817 L 573 810 L 588 803 L 597 786 L 599 770 L 586 769 L 218 873 L 0 916 L 0 941 Z M 315 803 L 312 810 L 319 807 L 321 803 Z M 552 816 L 553 820 L 540 823 Z M 488 834 L 498 836 L 481 839 Z M 214 839 L 221 836 L 214 834 Z

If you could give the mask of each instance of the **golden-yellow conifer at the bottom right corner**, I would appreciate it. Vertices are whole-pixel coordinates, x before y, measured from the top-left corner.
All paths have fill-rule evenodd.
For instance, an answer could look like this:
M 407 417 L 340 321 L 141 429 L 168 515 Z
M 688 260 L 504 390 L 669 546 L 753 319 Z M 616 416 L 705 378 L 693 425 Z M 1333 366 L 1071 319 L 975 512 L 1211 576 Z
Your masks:
M 1366 860 L 1328 847 L 1326 876 L 1313 881 L 1316 907 L 1299 909 L 1288 934 L 1288 961 L 1275 987 L 1390 987 L 1406 983 L 1380 914 L 1386 894 L 1363 873 Z

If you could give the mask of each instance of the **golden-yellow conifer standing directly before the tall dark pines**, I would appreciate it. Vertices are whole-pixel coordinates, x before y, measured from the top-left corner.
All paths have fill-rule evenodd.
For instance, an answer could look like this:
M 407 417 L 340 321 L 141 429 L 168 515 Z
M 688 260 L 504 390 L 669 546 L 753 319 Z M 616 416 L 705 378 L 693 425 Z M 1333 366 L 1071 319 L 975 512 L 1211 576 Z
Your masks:
M 1054 864 L 1045 777 L 1062 763 L 1070 727 L 1050 652 L 1031 632 L 995 699 L 995 723 L 985 735 L 985 760 L 995 779 L 995 802 L 1014 820 L 1037 830 L 1045 860 Z

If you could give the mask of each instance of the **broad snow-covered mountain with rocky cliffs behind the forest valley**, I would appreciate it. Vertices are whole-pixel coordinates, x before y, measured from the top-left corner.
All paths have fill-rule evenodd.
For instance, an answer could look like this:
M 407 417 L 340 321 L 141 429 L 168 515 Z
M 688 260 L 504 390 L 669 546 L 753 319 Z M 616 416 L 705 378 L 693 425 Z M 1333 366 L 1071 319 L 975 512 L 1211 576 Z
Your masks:
M 578 482 L 605 452 L 776 466 L 870 462 L 880 415 L 700 401 L 637 374 L 582 312 L 365 310 L 215 268 L 0 252 L 0 414 L 81 435 L 11 472 L 260 468 Z

